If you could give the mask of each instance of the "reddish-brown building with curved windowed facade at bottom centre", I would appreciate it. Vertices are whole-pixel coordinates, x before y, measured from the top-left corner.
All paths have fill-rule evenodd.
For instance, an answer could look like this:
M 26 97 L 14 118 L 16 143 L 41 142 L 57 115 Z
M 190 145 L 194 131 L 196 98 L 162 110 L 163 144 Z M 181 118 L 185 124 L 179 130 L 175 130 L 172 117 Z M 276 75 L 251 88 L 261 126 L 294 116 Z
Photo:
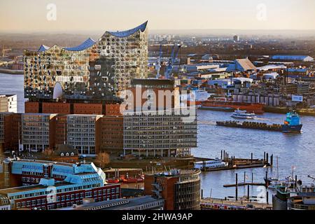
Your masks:
M 200 170 L 146 174 L 145 195 L 165 200 L 165 210 L 200 210 Z

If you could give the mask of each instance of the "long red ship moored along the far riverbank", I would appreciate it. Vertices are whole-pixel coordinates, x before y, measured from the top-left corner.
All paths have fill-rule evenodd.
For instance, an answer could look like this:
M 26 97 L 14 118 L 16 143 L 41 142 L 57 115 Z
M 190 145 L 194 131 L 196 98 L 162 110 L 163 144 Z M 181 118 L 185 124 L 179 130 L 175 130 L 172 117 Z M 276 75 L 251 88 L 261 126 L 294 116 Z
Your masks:
M 208 99 L 201 103 L 199 109 L 213 111 L 235 111 L 237 109 L 248 113 L 262 114 L 264 104 L 235 102 L 225 97 Z

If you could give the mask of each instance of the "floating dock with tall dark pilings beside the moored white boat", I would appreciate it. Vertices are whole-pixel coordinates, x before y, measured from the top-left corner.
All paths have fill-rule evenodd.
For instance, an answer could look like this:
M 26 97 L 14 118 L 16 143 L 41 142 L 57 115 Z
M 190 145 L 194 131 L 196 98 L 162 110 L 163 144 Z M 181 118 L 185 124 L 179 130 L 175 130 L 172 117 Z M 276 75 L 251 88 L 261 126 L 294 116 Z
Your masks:
M 217 167 L 217 168 L 209 168 L 206 167 L 206 161 L 214 160 L 210 158 L 195 158 L 196 162 L 203 162 L 202 172 L 214 172 L 220 170 L 228 170 L 228 169 L 250 169 L 255 167 L 272 167 L 273 165 L 273 155 L 268 153 L 264 153 L 264 158 L 255 159 L 253 158 L 253 153 L 251 153 L 251 158 L 235 158 L 235 156 L 230 156 L 227 152 L 221 151 L 221 160 L 223 162 L 228 162 L 227 167 Z

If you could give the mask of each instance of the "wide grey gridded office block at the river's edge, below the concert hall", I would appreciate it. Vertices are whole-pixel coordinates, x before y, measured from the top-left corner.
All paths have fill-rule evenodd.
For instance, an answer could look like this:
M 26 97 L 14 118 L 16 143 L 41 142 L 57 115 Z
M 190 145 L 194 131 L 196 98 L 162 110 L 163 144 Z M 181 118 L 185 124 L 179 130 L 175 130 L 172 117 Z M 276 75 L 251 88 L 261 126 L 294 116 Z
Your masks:
M 189 110 L 192 116 L 179 109 L 159 113 L 125 113 L 124 155 L 189 156 L 191 148 L 197 147 L 197 119 L 193 111 L 195 108 Z

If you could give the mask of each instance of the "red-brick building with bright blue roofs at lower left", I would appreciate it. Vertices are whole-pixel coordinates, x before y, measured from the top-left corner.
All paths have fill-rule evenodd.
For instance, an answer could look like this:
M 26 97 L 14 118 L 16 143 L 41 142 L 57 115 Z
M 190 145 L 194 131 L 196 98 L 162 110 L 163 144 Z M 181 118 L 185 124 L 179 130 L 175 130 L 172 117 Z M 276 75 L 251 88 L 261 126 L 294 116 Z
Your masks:
M 0 195 L 10 200 L 11 209 L 51 210 L 120 198 L 120 185 L 107 184 L 102 169 L 93 163 L 6 159 L 5 185 Z

